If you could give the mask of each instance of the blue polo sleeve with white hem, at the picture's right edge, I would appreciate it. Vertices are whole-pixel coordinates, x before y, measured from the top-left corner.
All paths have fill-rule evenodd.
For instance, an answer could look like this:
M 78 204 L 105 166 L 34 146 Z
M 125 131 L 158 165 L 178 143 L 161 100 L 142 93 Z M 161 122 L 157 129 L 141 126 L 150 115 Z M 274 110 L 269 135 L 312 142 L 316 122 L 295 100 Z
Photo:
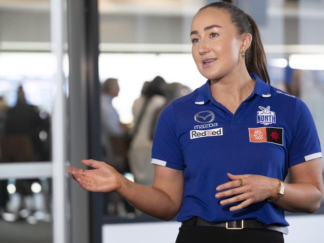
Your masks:
M 307 105 L 296 98 L 293 140 L 288 151 L 289 168 L 299 163 L 322 158 L 320 139 Z

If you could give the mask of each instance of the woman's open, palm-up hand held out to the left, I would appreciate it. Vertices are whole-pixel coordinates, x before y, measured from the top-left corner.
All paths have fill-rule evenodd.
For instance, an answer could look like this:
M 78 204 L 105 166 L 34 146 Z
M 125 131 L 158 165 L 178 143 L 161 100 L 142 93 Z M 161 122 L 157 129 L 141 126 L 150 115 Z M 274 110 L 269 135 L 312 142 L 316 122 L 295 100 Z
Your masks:
M 121 189 L 123 176 L 114 167 L 96 160 L 81 162 L 94 169 L 83 170 L 66 166 L 65 170 L 83 189 L 91 192 L 113 192 Z

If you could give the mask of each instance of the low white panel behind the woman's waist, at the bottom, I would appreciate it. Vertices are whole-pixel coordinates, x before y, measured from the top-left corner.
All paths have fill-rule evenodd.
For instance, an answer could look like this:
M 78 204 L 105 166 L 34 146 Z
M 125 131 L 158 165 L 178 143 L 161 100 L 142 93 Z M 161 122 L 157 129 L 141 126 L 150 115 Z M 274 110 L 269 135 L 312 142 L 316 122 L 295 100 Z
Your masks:
M 323 243 L 324 215 L 286 216 L 290 224 L 285 243 Z M 103 225 L 103 243 L 174 243 L 178 222 Z

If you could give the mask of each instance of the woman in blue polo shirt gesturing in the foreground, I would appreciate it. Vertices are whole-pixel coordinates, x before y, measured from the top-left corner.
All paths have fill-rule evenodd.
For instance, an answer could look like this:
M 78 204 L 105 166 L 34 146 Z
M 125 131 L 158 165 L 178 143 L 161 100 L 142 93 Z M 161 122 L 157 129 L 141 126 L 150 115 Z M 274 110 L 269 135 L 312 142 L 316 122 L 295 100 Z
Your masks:
M 95 170 L 69 172 L 82 188 L 117 191 L 158 219 L 179 213 L 177 243 L 284 242 L 284 210 L 313 213 L 321 204 L 313 118 L 300 99 L 269 85 L 257 25 L 241 9 L 225 2 L 202 7 L 190 35 L 192 56 L 208 80 L 163 110 L 152 186 L 93 160 L 82 163 Z M 291 184 L 282 182 L 288 168 Z

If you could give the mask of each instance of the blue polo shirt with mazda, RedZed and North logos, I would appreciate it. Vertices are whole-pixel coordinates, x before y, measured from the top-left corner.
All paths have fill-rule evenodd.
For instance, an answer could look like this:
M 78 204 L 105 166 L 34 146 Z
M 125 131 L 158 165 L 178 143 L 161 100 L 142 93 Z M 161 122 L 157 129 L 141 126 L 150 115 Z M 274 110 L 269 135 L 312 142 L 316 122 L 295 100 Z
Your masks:
M 198 216 L 209 222 L 256 219 L 289 226 L 284 210 L 267 200 L 230 212 L 241 202 L 222 206 L 221 200 L 233 196 L 215 198 L 216 186 L 230 181 L 227 172 L 284 181 L 288 168 L 322 157 L 305 103 L 266 84 L 255 73 L 250 76 L 256 80 L 254 90 L 235 114 L 215 101 L 207 80 L 172 101 L 160 115 L 151 163 L 183 170 L 178 222 Z

